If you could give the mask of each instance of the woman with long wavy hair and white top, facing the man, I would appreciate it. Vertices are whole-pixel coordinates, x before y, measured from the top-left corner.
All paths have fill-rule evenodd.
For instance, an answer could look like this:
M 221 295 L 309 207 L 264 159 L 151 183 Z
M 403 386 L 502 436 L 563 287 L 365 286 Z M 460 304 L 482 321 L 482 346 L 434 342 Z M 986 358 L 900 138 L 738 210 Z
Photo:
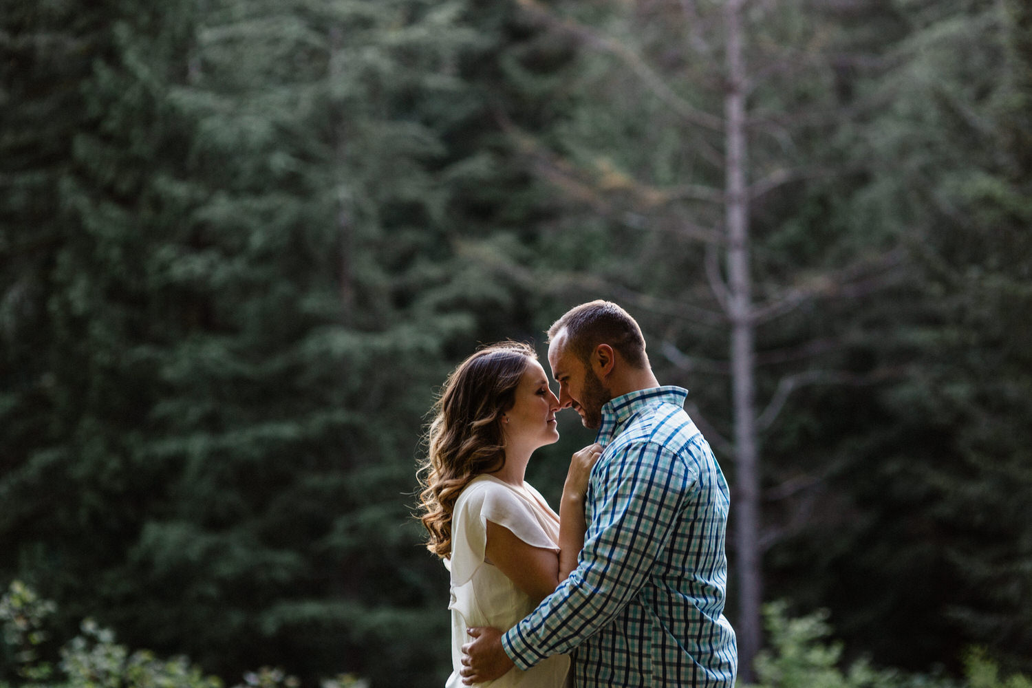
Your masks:
M 466 628 L 514 626 L 577 565 L 584 492 L 601 447 L 574 454 L 559 515 L 523 481 L 530 454 L 559 438 L 558 408 L 534 349 L 516 342 L 482 349 L 463 361 L 434 405 L 420 505 L 427 549 L 451 572 L 449 688 L 462 685 Z M 569 657 L 557 655 L 526 671 L 514 668 L 490 685 L 559 688 L 569 666 Z

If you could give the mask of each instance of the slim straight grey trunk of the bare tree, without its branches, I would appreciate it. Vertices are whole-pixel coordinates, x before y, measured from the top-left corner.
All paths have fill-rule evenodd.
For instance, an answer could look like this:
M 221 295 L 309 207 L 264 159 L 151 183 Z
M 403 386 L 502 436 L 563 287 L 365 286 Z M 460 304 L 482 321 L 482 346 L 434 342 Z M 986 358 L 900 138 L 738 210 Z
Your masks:
M 724 220 L 728 232 L 728 315 L 731 320 L 731 374 L 735 424 L 735 552 L 738 557 L 739 676 L 752 680 L 752 658 L 760 649 L 760 479 L 755 412 L 755 341 L 752 283 L 749 275 L 749 199 L 745 138 L 745 64 L 742 0 L 725 5 L 728 90 Z

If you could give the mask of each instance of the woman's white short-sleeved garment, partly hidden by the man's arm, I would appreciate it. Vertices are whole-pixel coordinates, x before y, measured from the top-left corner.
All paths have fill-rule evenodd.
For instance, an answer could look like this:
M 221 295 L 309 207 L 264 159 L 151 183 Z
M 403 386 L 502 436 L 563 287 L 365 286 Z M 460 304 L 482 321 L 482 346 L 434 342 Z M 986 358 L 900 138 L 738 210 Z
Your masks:
M 462 645 L 472 638 L 470 626 L 508 630 L 537 603 L 509 578 L 484 561 L 487 521 L 505 526 L 527 545 L 559 551 L 559 517 L 529 485 L 526 493 L 494 478 L 477 476 L 455 502 L 452 512 L 452 555 L 445 560 L 451 571 L 452 674 L 447 688 L 462 686 Z M 491 688 L 561 688 L 570 668 L 567 655 L 548 657 L 526 671 L 513 667 L 495 681 L 477 684 Z

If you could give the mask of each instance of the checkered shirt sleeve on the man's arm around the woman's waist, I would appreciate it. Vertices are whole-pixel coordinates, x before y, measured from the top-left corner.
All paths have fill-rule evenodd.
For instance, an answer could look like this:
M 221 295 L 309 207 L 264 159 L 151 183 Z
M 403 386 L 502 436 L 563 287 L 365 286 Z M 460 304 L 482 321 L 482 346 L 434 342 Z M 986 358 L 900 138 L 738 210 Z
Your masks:
M 521 669 L 570 652 L 623 610 L 648 580 L 677 514 L 697 489 L 686 462 L 656 443 L 615 448 L 595 468 L 577 568 L 502 636 Z

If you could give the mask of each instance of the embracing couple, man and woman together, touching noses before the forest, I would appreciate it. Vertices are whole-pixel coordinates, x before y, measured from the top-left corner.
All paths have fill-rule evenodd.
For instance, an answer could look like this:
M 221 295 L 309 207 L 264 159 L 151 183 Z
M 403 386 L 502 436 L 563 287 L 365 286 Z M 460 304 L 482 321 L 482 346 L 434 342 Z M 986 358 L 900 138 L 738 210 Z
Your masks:
M 482 349 L 445 383 L 429 429 L 421 519 L 451 572 L 449 688 L 735 683 L 723 617 L 729 491 L 660 387 L 635 320 L 591 301 L 534 349 Z M 595 443 L 573 455 L 556 514 L 524 471 L 572 407 Z

